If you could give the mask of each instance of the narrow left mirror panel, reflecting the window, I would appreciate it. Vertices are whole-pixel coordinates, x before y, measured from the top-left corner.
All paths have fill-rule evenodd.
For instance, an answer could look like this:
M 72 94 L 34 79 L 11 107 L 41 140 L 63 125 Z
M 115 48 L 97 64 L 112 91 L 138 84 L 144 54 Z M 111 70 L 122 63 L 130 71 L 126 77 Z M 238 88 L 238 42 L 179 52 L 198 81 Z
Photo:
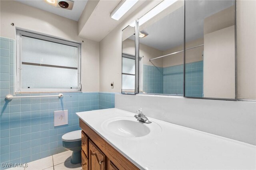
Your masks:
M 122 94 L 135 94 L 135 27 L 122 30 Z

